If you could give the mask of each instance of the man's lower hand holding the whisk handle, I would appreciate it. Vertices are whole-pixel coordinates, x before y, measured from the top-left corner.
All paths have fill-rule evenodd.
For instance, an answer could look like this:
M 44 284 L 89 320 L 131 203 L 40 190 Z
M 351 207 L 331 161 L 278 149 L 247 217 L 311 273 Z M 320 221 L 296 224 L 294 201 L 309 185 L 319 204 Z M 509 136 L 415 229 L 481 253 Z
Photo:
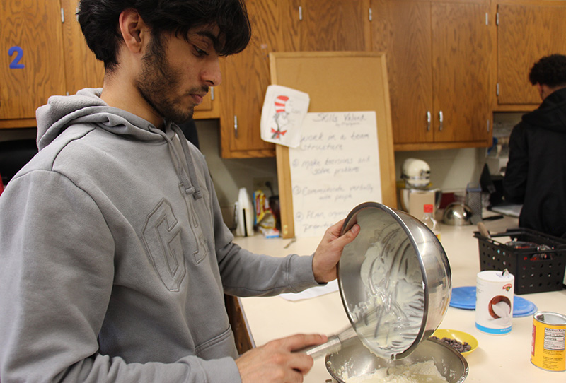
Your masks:
M 296 334 L 253 348 L 236 359 L 242 383 L 300 383 L 313 367 L 313 358 L 292 353 L 327 341 L 325 335 Z

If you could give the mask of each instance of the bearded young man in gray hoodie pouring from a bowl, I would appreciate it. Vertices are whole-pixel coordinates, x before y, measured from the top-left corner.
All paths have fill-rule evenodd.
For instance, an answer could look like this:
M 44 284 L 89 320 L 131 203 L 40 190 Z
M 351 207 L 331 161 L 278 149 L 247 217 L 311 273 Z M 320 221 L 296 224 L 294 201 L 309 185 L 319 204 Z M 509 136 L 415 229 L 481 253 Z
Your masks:
M 0 198 L 0 381 L 301 382 L 298 334 L 237 355 L 224 293 L 336 278 L 329 228 L 311 257 L 233 243 L 204 158 L 176 122 L 250 38 L 239 0 L 83 0 L 103 89 L 37 110 L 39 153 Z M 245 102 L 245 100 L 243 100 Z

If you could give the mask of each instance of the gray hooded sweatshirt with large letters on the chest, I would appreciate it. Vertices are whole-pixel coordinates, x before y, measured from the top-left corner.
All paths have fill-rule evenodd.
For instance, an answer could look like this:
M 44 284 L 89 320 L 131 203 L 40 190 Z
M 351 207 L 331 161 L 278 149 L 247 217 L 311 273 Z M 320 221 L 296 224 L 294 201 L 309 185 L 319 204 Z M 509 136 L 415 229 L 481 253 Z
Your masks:
M 0 197 L 0 382 L 239 382 L 224 293 L 316 285 L 233 243 L 202 154 L 100 89 L 37 110 Z

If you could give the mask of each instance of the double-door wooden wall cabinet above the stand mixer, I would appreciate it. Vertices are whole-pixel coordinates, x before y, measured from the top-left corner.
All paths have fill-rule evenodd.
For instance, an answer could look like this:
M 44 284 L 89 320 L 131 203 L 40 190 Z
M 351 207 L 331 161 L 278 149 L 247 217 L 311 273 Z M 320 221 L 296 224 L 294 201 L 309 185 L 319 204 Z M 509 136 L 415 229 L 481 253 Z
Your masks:
M 395 150 L 487 146 L 487 1 L 375 0 L 373 49 L 386 52 Z

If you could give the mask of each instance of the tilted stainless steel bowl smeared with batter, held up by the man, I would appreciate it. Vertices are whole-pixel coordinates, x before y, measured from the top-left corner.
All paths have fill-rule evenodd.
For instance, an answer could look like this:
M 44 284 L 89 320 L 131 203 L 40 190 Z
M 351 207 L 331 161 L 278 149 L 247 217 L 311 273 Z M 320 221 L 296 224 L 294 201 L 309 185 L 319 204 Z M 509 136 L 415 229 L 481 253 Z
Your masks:
M 402 359 L 432 335 L 448 310 L 451 271 L 437 237 L 416 218 L 366 202 L 347 216 L 359 235 L 342 252 L 342 304 L 360 341 L 385 359 Z

